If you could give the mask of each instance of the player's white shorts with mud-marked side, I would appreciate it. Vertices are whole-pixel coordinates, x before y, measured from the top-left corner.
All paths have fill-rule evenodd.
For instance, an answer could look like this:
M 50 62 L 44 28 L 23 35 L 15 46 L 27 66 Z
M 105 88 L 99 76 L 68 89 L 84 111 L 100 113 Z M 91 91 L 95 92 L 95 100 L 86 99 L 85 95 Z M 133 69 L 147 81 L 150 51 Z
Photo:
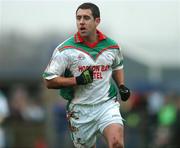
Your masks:
M 96 136 L 103 133 L 112 123 L 123 125 L 120 104 L 108 100 L 96 105 L 70 104 L 67 112 L 71 138 L 76 148 L 90 148 L 96 143 Z

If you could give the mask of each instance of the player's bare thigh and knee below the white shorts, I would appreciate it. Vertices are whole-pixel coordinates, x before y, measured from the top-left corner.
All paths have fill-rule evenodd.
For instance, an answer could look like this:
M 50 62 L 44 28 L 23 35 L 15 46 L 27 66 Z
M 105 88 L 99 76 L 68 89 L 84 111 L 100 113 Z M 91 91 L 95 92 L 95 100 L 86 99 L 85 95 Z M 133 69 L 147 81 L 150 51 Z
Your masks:
M 124 128 L 122 125 L 117 123 L 108 125 L 104 129 L 103 135 L 109 148 L 124 148 Z

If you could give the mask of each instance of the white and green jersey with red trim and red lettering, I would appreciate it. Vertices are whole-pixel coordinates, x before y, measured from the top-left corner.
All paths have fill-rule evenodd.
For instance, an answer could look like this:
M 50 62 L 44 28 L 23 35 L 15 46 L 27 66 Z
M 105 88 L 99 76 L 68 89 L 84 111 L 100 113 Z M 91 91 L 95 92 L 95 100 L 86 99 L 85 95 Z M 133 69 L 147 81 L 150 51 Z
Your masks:
M 84 43 L 80 35 L 69 38 L 54 51 L 43 76 L 53 79 L 64 76 L 68 69 L 73 76 L 91 66 L 93 83 L 73 87 L 74 104 L 97 104 L 117 95 L 112 83 L 112 71 L 123 68 L 123 57 L 117 43 L 98 31 L 99 42 Z

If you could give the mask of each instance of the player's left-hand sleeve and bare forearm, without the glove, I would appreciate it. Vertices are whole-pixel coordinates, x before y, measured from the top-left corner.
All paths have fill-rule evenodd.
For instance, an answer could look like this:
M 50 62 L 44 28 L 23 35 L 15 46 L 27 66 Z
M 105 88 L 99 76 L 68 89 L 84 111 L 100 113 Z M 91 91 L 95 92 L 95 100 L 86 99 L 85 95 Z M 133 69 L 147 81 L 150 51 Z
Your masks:
M 60 89 L 63 87 L 76 85 L 76 78 L 65 77 L 64 73 L 69 65 L 67 54 L 54 50 L 52 58 L 43 73 L 44 84 L 49 89 Z

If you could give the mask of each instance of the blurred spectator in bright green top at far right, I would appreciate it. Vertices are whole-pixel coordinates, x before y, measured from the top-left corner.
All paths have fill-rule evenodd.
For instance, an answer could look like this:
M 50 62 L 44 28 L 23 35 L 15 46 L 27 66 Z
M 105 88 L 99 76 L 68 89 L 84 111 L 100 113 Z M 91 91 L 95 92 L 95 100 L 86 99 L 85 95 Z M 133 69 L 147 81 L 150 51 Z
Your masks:
M 172 128 L 177 120 L 174 95 L 167 95 L 164 99 L 164 105 L 158 112 L 158 127 L 154 141 L 155 147 L 157 148 L 173 147 L 171 144 Z

